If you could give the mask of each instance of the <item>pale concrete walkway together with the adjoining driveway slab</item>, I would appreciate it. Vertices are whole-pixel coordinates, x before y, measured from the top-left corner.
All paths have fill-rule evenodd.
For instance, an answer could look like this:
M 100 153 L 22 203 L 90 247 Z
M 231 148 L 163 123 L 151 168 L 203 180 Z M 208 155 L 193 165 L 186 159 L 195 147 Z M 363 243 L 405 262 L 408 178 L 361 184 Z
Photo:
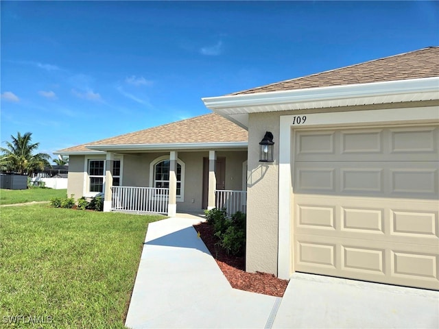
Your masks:
M 230 287 L 193 223 L 150 223 L 128 328 L 439 328 L 439 292 L 295 273 L 283 298 Z

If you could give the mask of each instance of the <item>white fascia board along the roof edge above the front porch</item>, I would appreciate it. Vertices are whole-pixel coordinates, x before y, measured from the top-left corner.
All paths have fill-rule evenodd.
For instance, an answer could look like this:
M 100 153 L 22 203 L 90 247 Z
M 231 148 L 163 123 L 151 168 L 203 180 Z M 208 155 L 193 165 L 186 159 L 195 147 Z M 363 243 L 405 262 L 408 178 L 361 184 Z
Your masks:
M 119 145 L 89 145 L 90 149 L 101 151 L 150 151 L 158 149 L 236 149 L 248 147 L 248 142 L 229 143 L 167 143 L 167 144 L 119 144 Z

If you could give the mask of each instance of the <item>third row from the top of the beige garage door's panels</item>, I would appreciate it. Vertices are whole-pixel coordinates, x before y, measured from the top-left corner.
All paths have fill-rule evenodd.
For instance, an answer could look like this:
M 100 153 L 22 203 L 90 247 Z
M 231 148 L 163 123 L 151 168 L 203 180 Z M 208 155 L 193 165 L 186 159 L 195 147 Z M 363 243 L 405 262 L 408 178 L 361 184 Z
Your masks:
M 298 195 L 294 203 L 298 234 L 435 245 L 439 251 L 438 202 Z

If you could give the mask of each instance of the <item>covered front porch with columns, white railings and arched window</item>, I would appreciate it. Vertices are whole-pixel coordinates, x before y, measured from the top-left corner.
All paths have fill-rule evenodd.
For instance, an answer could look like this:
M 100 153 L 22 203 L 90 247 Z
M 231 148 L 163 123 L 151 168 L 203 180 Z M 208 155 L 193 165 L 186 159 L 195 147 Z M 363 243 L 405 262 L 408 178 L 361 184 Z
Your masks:
M 104 211 L 169 217 L 213 208 L 225 209 L 228 215 L 246 212 L 246 153 L 241 149 L 106 151 L 105 164 L 101 164 Z

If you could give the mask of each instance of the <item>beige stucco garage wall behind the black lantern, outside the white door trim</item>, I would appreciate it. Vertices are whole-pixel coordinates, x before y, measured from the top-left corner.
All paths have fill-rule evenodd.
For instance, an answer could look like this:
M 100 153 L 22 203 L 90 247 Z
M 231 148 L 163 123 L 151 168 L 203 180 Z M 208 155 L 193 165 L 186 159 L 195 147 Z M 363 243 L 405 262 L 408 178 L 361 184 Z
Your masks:
M 438 106 L 439 101 L 392 103 L 386 105 L 322 108 L 316 110 L 290 110 L 252 113 L 248 121 L 248 195 L 246 271 L 264 271 L 277 275 L 278 247 L 278 145 L 281 115 L 378 110 Z M 274 135 L 274 162 L 259 162 L 259 142 L 266 131 Z

